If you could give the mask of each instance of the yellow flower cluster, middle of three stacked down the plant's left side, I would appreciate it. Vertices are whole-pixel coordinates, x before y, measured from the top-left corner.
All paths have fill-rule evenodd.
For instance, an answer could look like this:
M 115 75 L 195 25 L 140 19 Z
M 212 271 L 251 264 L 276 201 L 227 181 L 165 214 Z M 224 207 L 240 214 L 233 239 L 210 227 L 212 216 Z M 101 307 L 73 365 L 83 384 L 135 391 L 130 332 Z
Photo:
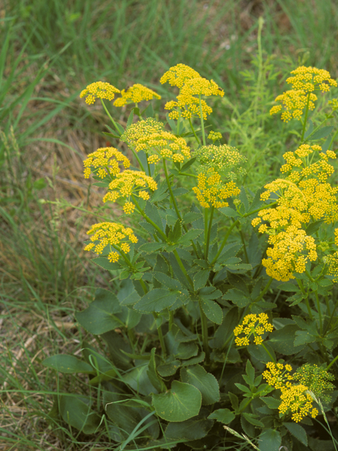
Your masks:
M 134 211 L 135 206 L 130 202 L 130 196 L 134 194 L 141 199 L 148 200 L 149 192 L 142 189 L 148 185 L 149 189 L 152 191 L 157 190 L 157 183 L 154 178 L 149 177 L 142 171 L 131 171 L 126 169 L 125 171 L 118 173 L 115 180 L 109 183 L 109 191 L 104 196 L 103 201 L 116 202 L 120 197 L 127 198 L 125 204 L 123 205 L 123 211 L 125 214 L 130 214 Z

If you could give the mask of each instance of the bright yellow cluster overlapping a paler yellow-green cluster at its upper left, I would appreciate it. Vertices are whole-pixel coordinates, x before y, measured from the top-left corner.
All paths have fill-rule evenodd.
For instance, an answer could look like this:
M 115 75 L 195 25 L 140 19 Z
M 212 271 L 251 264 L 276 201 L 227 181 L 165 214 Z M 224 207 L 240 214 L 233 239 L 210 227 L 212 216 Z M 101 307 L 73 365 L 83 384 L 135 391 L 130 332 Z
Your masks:
M 184 158 L 190 158 L 190 149 L 184 138 L 165 131 L 140 137 L 135 143 L 135 150 L 151 154 L 148 156 L 149 163 L 158 163 L 160 159 L 182 163 Z

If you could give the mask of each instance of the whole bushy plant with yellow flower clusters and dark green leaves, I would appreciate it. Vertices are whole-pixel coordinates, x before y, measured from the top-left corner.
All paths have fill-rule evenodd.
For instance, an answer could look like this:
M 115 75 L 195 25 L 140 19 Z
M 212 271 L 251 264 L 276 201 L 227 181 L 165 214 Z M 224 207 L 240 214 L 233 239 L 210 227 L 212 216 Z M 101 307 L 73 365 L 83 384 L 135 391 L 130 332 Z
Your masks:
M 240 149 L 206 132 L 223 88 L 182 63 L 160 81 L 178 91 L 160 116 L 140 111 L 161 99 L 143 85 L 94 82 L 80 94 L 100 99 L 114 128 L 115 147 L 84 160 L 112 217 L 92 225 L 84 250 L 114 283 L 76 314 L 99 347 L 83 342 L 82 360 L 44 362 L 87 373 L 97 408 L 76 396 L 54 408 L 84 433 L 102 427 L 121 450 L 130 440 L 132 449 L 225 449 L 227 430 L 261 451 L 307 446 L 313 419 L 337 409 L 337 133 L 322 126 L 337 99 L 314 125 L 314 92 L 337 82 L 326 70 L 292 71 L 270 113 L 301 131 L 255 193 L 241 186 Z M 123 127 L 111 111 L 130 104 Z

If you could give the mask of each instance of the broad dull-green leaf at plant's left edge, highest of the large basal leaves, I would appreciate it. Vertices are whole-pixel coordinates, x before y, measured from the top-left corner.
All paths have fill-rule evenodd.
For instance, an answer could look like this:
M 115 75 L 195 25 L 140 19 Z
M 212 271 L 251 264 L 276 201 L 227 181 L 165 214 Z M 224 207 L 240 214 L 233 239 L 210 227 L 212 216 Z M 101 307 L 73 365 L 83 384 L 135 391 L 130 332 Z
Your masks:
M 96 290 L 95 300 L 84 311 L 77 311 L 75 318 L 88 332 L 101 335 L 123 326 L 122 321 L 114 316 L 120 311 L 120 302 L 113 292 L 100 288 Z

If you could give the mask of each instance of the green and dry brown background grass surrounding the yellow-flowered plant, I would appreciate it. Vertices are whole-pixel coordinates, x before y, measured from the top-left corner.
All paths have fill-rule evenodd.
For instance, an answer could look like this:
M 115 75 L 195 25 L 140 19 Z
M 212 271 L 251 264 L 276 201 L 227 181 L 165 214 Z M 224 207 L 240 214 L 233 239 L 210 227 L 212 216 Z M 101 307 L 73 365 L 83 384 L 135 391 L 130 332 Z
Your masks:
M 48 414 L 51 393 L 88 386 L 41 365 L 49 355 L 79 351 L 83 332 L 74 311 L 87 306 L 95 286 L 109 283 L 82 252 L 85 230 L 111 212 L 97 208 L 99 190 L 89 204 L 94 189 L 82 179 L 82 160 L 106 138 L 104 113 L 87 108 L 80 90 L 95 80 L 120 89 L 144 82 L 169 99 L 170 89 L 158 79 L 179 62 L 213 78 L 225 97 L 215 104 L 221 113 L 211 129 L 247 157 L 245 182 L 253 189 L 277 173 L 289 145 L 283 137 L 293 125 L 268 114 L 289 70 L 305 63 L 337 78 L 338 6 L 320 0 L 20 0 L 8 1 L 4 11 L 0 450 L 85 450 L 95 443 L 111 449 L 105 438 L 78 435 Z M 127 115 L 115 112 L 120 121 Z

